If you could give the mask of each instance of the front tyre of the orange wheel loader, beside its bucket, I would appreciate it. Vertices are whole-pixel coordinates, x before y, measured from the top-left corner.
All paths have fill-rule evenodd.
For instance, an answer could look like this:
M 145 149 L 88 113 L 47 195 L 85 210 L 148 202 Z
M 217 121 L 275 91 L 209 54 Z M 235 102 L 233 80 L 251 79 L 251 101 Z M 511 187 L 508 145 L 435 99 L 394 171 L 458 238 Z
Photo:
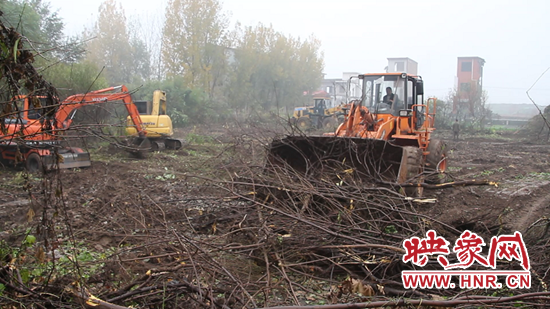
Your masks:
M 398 183 L 420 184 L 424 182 L 422 176 L 422 149 L 418 147 L 403 147 L 403 157 L 399 171 Z M 401 192 L 406 196 L 420 197 L 423 187 L 402 187 Z

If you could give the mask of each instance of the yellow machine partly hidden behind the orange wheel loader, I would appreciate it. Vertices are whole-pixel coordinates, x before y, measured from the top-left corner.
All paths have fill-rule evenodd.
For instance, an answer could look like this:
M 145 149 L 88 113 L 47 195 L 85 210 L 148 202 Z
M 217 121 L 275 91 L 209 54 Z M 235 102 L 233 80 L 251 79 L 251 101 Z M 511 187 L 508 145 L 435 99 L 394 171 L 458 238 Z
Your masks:
M 345 117 L 345 105 L 327 108 L 330 105 L 330 97 L 314 96 L 313 106 L 296 107 L 291 122 L 298 128 L 335 129 Z

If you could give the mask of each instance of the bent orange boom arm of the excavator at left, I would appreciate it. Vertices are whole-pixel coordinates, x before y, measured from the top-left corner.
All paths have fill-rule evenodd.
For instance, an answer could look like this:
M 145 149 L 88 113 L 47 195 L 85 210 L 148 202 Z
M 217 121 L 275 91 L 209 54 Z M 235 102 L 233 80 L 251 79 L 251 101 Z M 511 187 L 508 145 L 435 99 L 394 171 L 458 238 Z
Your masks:
M 112 93 L 114 91 L 118 92 Z M 72 118 L 74 117 L 73 112 L 76 109 L 86 105 L 111 101 L 122 101 L 124 103 L 124 106 L 128 111 L 128 115 L 136 126 L 138 135 L 140 137 L 145 137 L 147 132 L 145 131 L 144 125 L 139 117 L 138 109 L 132 100 L 132 96 L 128 92 L 128 88 L 124 85 L 96 90 L 86 94 L 75 94 L 68 97 L 65 101 L 60 103 L 59 109 L 55 114 L 54 127 L 57 130 L 66 130 L 72 124 Z

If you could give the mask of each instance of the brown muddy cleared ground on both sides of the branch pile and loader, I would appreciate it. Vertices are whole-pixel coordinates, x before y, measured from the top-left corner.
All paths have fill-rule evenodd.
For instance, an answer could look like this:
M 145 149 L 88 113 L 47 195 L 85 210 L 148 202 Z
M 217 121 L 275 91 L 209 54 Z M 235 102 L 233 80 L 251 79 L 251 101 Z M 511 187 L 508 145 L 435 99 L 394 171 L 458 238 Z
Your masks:
M 121 305 L 159 306 L 152 296 L 127 295 L 147 286 L 140 277 L 151 270 L 162 274 L 158 280 L 162 278 L 164 287 L 166 282 L 183 280 L 178 278 L 179 269 L 185 269 L 186 274 L 194 273 L 195 279 L 189 279 L 191 285 L 184 286 L 188 293 L 194 291 L 193 286 L 200 288 L 203 283 L 214 286 L 212 280 L 216 274 L 239 278 L 226 278 L 229 283 L 225 284 L 229 286 L 216 286 L 220 295 L 231 293 L 231 284 L 243 285 L 242 290 L 249 286 L 251 290 L 261 290 L 258 283 L 253 283 L 263 282 L 269 271 L 257 257 L 251 257 L 256 253 L 250 251 L 249 256 L 241 254 L 235 258 L 225 256 L 223 248 L 239 248 L 232 249 L 236 252 L 254 244 L 255 240 L 249 238 L 259 237 L 242 230 L 230 234 L 235 226 L 242 228 L 248 222 L 243 207 L 253 205 L 253 199 L 247 197 L 254 196 L 254 188 L 241 185 L 241 174 L 245 166 L 248 171 L 261 174 L 259 166 L 269 134 L 257 134 L 255 130 L 238 134 L 220 130 L 212 134 L 196 128 L 178 134 L 188 140 L 184 149 L 153 153 L 147 160 L 132 159 L 124 152 L 98 144 L 90 149 L 93 160 L 90 168 L 49 173 L 44 178 L 27 176 L 14 168 L 2 169 L 0 240 L 14 246 L 25 244 L 25 235 L 36 235 L 36 244 L 22 246 L 22 252 L 29 256 L 27 262 L 31 258 L 44 263 L 67 257 L 71 250 L 74 255 L 87 253 L 87 258 L 80 258 L 83 270 L 78 275 L 69 270 L 66 274 L 72 279 L 81 276 L 93 294 Z M 435 219 L 434 222 L 439 221 L 434 227 L 443 223 L 460 231 L 469 229 L 486 242 L 493 235 L 522 232 L 528 250 L 531 249 L 531 263 L 536 272 L 533 281 L 538 282 L 533 284 L 532 291 L 545 290 L 550 283 L 547 271 L 550 232 L 546 228 L 550 217 L 550 145 L 514 134 L 462 136 L 458 141 L 450 140 L 448 132 L 436 137 L 444 139 L 449 149 L 447 180 L 488 179 L 497 186 L 425 190 L 424 197 L 436 199 L 435 203 L 413 203 L 413 208 Z M 278 235 L 286 237 L 285 233 Z M 184 243 L 191 243 L 191 248 Z M 208 244 L 205 245 L 208 250 L 201 244 Z M 218 253 L 211 258 L 214 251 Z M 259 260 L 262 259 L 260 254 Z M 199 262 L 202 264 L 197 270 Z M 23 262 L 19 263 L 23 271 Z M 264 297 L 257 305 L 338 302 L 330 301 L 330 295 L 345 277 L 313 274 L 313 266 L 310 271 L 307 283 L 300 281 L 299 274 L 282 272 L 286 281 L 296 282 L 294 289 L 272 292 L 270 298 Z M 170 272 L 173 276 L 167 274 Z M 31 271 L 28 280 L 37 285 L 44 277 L 44 273 Z M 53 278 L 57 286 L 70 284 L 61 274 L 57 277 Z M 125 290 L 132 282 L 136 284 Z M 157 289 L 159 286 L 160 281 Z M 121 295 L 125 297 L 117 298 Z M 194 304 L 200 307 L 200 299 Z

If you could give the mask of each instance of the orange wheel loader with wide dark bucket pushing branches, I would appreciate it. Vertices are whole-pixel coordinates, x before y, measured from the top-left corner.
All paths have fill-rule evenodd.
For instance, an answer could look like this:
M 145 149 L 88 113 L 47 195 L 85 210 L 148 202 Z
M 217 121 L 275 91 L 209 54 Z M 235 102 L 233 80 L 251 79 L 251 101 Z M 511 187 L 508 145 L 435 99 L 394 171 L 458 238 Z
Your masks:
M 268 162 L 317 179 L 356 176 L 398 185 L 418 184 L 426 175 L 444 172 L 445 144 L 431 138 L 436 100 L 424 103 L 422 78 L 380 73 L 359 79 L 361 100 L 351 102 L 334 133 L 275 139 Z M 421 195 L 422 187 L 407 186 L 403 191 Z

